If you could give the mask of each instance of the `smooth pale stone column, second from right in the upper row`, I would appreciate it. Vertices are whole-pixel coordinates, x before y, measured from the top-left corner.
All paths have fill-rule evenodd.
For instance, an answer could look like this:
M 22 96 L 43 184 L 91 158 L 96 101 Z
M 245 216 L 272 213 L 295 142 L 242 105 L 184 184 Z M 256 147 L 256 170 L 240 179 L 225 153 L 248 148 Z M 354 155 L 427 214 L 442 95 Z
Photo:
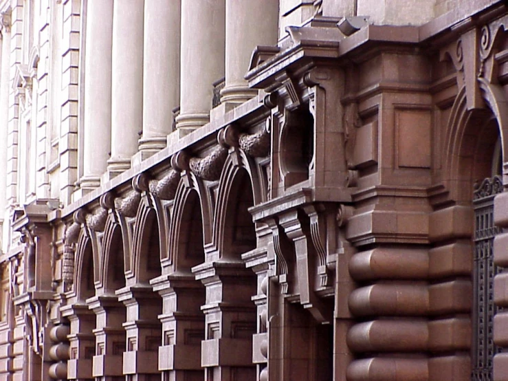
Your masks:
M 181 1 L 181 134 L 209 120 L 212 83 L 224 76 L 224 21 L 224 0 Z

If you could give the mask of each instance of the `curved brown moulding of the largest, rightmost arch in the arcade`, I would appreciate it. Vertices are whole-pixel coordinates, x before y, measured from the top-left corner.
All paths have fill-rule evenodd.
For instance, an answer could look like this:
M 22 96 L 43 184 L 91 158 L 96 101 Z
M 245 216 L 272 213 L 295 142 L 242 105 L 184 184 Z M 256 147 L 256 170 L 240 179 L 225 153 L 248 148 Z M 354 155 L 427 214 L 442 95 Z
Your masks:
M 245 173 L 250 181 L 253 205 L 263 202 L 261 181 L 253 160 L 241 150 L 230 153 L 219 179 L 219 196 L 214 210 L 213 242 L 219 253 L 223 253 L 225 249 L 224 240 L 227 236 L 228 212 L 230 212 L 230 208 L 238 196 L 235 188 L 239 186 L 237 180 L 240 173 Z

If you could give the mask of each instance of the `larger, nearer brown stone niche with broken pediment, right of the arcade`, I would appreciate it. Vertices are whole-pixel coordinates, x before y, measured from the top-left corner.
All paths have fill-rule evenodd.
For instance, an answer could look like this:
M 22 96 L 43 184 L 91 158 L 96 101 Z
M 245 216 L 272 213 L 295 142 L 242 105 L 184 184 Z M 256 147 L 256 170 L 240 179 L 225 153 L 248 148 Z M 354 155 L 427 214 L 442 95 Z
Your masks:
M 328 25 L 329 24 L 329 25 Z M 288 27 L 280 48 L 258 47 L 245 78 L 269 96 L 272 109 L 272 189 L 269 198 L 310 188 L 313 199 L 349 202 L 347 133 L 342 118 L 344 35 L 335 23 Z

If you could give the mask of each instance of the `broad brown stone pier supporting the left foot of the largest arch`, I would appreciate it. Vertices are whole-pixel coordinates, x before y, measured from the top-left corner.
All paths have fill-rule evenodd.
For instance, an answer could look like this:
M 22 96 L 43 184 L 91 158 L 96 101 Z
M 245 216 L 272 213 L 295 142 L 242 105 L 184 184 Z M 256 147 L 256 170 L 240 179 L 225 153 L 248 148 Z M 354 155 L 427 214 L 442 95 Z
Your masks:
M 256 381 L 252 336 L 256 333 L 255 275 L 243 262 L 203 263 L 192 268 L 206 291 L 201 367 L 206 380 Z

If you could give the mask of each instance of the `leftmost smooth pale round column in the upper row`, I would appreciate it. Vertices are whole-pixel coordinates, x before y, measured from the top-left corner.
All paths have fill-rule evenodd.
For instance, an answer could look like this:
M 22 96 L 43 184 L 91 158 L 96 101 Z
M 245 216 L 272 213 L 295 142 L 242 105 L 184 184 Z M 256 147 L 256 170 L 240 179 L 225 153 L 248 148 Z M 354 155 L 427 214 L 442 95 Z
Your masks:
M 100 186 L 111 147 L 113 0 L 87 2 L 82 189 Z

